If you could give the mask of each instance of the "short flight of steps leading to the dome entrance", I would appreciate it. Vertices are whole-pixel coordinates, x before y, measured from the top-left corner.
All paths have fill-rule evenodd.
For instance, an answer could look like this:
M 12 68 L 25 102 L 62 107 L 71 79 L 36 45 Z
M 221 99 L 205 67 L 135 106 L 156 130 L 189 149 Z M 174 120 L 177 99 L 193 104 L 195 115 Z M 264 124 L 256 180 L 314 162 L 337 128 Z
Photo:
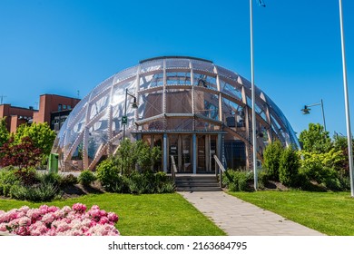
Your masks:
M 177 174 L 177 191 L 220 191 L 220 184 L 214 174 Z

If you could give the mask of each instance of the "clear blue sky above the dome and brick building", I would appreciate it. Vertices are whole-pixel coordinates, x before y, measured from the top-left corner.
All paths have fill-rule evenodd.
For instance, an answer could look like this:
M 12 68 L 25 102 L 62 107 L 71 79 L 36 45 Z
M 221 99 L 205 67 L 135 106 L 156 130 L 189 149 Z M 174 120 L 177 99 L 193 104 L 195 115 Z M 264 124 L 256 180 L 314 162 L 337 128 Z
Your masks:
M 295 132 L 322 122 L 319 106 L 310 115 L 300 109 L 323 99 L 330 135 L 346 135 L 339 1 L 264 2 L 253 5 L 256 84 Z M 343 9 L 354 112 L 354 2 L 343 0 Z M 0 95 L 15 106 L 35 106 L 43 93 L 79 90 L 82 98 L 113 73 L 161 55 L 210 59 L 251 79 L 248 0 L 1 0 L 0 33 Z

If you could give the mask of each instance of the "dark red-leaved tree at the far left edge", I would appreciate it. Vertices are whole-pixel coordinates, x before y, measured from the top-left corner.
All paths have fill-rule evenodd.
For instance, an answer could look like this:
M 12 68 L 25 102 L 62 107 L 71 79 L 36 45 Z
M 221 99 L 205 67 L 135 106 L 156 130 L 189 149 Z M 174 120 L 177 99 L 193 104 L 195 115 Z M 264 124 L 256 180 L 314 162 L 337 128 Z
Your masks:
M 20 170 L 34 167 L 42 160 L 42 151 L 34 146 L 29 137 L 24 137 L 19 144 L 11 137 L 0 147 L 0 166 L 16 166 Z

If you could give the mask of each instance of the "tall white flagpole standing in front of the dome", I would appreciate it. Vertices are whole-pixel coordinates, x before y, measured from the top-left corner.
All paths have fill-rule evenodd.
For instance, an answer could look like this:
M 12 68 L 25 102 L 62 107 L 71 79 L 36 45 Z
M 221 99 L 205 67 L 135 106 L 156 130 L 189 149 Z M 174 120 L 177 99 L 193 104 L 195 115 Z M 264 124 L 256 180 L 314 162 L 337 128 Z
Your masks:
M 251 100 L 252 100 L 252 146 L 253 146 L 253 175 L 254 190 L 258 189 L 257 175 L 257 140 L 256 140 L 256 112 L 255 112 L 255 90 L 254 90 L 254 70 L 253 70 L 253 17 L 252 1 L 250 0 L 250 34 L 251 34 Z

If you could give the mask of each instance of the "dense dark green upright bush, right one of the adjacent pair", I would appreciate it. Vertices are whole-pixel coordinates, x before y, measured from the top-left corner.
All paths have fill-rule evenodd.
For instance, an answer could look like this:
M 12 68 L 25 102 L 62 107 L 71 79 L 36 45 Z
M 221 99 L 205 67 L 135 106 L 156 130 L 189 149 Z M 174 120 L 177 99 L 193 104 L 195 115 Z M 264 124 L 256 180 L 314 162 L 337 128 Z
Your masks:
M 279 180 L 289 187 L 299 187 L 300 157 L 292 146 L 287 147 L 280 156 Z

